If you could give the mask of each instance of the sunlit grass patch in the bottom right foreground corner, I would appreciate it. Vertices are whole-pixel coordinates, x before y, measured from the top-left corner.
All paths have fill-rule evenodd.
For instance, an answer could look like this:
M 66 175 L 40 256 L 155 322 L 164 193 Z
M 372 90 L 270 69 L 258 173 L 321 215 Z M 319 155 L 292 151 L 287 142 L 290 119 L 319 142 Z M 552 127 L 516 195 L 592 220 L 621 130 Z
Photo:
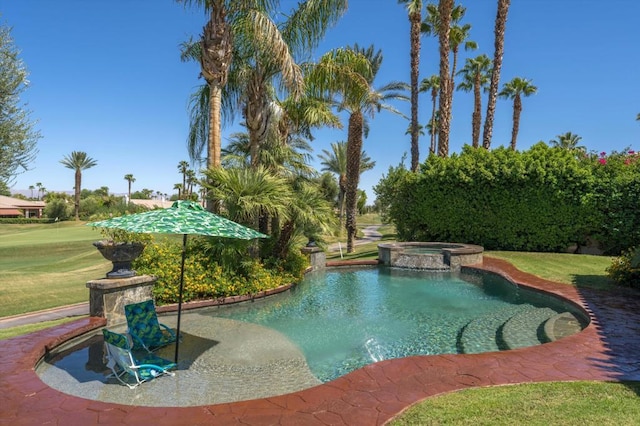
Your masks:
M 404 425 L 637 425 L 640 383 L 552 382 L 467 389 L 416 404 Z

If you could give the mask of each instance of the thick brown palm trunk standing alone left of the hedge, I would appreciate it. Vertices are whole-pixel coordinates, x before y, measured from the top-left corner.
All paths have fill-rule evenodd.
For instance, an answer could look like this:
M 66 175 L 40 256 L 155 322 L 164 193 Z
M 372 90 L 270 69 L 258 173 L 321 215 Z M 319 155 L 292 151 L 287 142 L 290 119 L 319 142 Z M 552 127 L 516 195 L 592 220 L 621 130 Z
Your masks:
M 360 155 L 362 152 L 362 111 L 354 111 L 349 116 L 347 137 L 347 253 L 353 253 L 357 232 L 358 183 L 360 181 Z

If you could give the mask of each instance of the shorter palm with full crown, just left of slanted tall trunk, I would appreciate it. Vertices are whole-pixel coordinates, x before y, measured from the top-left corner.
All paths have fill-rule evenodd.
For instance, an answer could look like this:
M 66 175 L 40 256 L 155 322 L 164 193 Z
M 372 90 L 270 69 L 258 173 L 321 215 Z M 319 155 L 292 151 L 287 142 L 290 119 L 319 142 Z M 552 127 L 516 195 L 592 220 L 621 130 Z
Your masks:
M 481 91 L 486 91 L 491 72 L 491 59 L 487 55 L 479 55 L 475 58 L 467 58 L 464 68 L 458 74 L 462 74 L 463 80 L 458 85 L 459 90 L 469 92 L 473 90 L 473 114 L 471 116 L 471 140 L 474 148 L 480 146 L 480 125 L 482 123 L 482 97 Z

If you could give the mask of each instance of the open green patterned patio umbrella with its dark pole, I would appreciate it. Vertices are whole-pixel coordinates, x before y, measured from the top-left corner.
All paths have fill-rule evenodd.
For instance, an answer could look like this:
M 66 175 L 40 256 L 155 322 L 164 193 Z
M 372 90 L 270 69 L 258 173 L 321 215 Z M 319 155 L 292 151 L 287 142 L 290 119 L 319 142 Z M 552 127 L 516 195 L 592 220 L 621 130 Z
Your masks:
M 193 201 L 179 200 L 168 209 L 151 210 L 144 213 L 114 217 L 113 219 L 88 223 L 99 228 L 116 228 L 140 234 L 183 234 L 182 266 L 180 270 L 180 292 L 178 298 L 177 335 L 180 335 L 180 315 L 182 312 L 182 290 L 184 284 L 184 258 L 187 246 L 187 234 L 208 235 L 212 237 L 251 240 L 268 238 L 267 235 L 242 226 L 236 222 L 205 210 Z M 178 362 L 176 340 L 175 362 Z

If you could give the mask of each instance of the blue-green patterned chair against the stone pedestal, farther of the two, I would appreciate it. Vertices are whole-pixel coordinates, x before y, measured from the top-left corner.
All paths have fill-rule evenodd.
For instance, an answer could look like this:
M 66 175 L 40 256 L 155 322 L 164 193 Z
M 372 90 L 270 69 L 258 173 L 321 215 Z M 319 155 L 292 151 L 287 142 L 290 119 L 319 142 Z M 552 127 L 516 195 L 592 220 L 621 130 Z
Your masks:
M 175 332 L 158 322 L 153 300 L 126 305 L 124 313 L 133 338 L 133 349 L 144 348 L 151 352 L 176 341 Z

